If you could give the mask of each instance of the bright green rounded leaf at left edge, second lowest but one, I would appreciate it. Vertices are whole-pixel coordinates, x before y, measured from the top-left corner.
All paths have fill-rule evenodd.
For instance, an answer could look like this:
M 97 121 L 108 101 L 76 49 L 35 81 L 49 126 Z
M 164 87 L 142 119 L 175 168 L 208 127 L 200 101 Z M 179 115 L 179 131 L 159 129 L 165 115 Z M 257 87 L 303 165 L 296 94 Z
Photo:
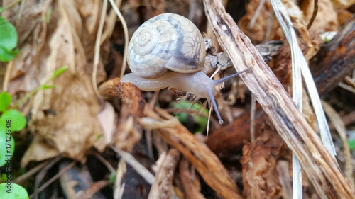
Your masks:
M 0 117 L 0 132 L 6 132 L 6 130 L 11 130 L 11 132 L 22 130 L 26 127 L 27 120 L 23 115 L 18 112 L 18 110 L 6 110 L 2 113 Z M 0 136 L 4 134 L 0 133 Z

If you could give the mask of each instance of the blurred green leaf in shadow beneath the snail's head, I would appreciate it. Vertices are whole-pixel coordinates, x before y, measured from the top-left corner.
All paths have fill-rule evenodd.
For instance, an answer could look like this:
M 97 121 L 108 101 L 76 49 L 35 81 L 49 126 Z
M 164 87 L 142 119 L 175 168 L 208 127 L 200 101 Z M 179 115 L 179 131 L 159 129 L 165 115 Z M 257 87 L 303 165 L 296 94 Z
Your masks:
M 180 109 L 185 109 L 185 110 L 196 110 L 199 112 L 204 113 L 205 115 L 208 115 L 209 111 L 207 108 L 204 108 L 200 103 L 195 103 L 192 105 L 192 103 L 187 102 L 187 101 L 180 101 L 178 103 L 173 103 L 173 108 L 180 108 Z M 189 118 L 189 115 L 187 113 L 177 113 L 174 114 L 180 123 L 187 123 L 187 120 Z M 195 115 L 192 117 L 194 120 L 194 123 L 196 124 L 196 127 L 192 132 L 203 132 L 206 127 L 207 127 L 207 121 L 208 118 L 205 118 L 200 115 Z

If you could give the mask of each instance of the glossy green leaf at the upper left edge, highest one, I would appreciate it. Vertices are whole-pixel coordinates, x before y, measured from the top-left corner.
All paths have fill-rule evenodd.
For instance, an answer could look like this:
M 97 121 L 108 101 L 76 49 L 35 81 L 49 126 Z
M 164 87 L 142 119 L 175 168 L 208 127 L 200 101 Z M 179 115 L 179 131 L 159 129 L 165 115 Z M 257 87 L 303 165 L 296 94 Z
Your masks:
M 16 28 L 1 16 L 0 30 L 0 60 L 7 62 L 18 53 L 18 50 L 11 51 L 17 45 L 17 32 Z

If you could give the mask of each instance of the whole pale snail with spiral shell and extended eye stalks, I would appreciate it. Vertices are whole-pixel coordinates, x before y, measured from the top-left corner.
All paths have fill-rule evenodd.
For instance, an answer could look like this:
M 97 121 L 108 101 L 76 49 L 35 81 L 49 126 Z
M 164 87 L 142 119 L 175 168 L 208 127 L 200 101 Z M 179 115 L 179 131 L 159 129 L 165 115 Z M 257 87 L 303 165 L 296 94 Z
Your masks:
M 132 73 L 121 78 L 143 91 L 156 91 L 171 87 L 207 98 L 217 109 L 215 86 L 242 72 L 212 80 L 201 72 L 206 49 L 200 30 L 187 18 L 163 13 L 143 23 L 129 42 L 128 64 Z M 245 72 L 244 70 L 243 72 Z

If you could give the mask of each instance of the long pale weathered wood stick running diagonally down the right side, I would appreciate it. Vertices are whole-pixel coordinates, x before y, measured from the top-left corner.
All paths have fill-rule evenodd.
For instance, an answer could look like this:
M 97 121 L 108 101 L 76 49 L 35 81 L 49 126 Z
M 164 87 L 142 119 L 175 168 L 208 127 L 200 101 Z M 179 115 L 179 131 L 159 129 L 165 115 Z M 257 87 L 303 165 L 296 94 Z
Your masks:
M 355 198 L 354 188 L 346 181 L 334 157 L 307 124 L 249 38 L 226 13 L 222 3 L 206 0 L 204 8 L 214 35 L 237 71 L 251 69 L 250 72 L 241 74 L 241 79 L 300 160 L 303 171 L 320 198 Z

